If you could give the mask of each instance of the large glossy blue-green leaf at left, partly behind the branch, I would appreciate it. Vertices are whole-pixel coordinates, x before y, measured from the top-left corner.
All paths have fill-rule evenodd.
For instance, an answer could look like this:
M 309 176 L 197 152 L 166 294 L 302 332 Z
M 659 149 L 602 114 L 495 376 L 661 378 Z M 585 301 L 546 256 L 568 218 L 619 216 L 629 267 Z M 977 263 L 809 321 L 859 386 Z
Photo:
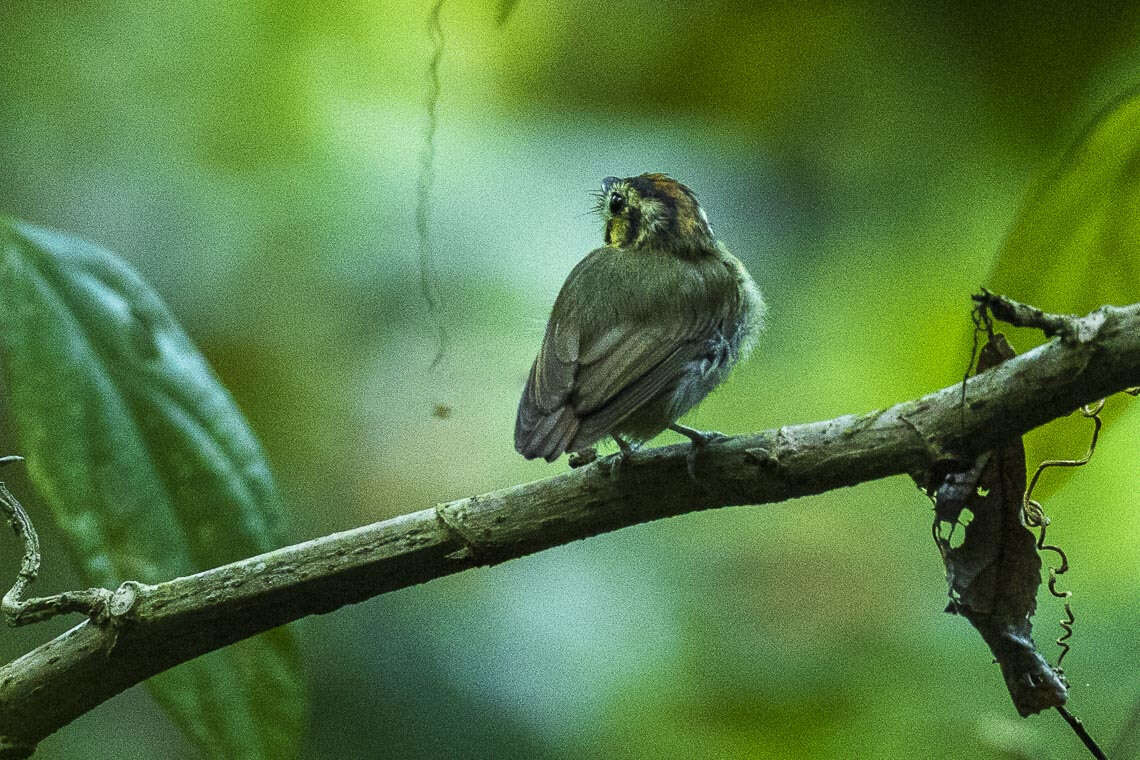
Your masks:
M 279 498 L 233 399 L 158 296 L 97 246 L 0 218 L 0 367 L 17 446 L 88 583 L 168 580 L 277 544 Z M 148 681 L 211 757 L 296 753 L 277 629 Z

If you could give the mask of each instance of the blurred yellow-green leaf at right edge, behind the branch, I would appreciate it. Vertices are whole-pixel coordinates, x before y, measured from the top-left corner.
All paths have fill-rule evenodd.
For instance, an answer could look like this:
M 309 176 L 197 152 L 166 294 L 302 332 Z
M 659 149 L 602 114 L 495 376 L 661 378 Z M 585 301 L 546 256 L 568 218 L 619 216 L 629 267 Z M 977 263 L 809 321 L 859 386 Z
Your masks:
M 1039 185 L 985 284 L 1053 312 L 1084 314 L 1106 303 L 1140 301 L 1140 89 L 1108 106 Z M 1012 338 L 1024 352 L 1041 336 L 1015 330 Z M 1114 399 L 1105 409 L 1109 434 L 1129 406 Z M 1031 466 L 1083 455 L 1090 431 L 1089 420 L 1073 416 L 1032 433 Z M 1035 493 L 1048 495 L 1073 472 L 1053 469 Z

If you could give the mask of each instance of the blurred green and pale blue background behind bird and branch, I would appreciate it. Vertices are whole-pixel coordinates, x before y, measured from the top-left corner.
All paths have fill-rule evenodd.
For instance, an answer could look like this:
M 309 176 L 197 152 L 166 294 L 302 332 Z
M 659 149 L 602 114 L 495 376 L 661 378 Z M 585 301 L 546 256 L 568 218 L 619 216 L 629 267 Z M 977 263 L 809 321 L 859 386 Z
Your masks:
M 1140 8 L 1064 7 L 521 0 L 497 26 L 496 2 L 449 0 L 434 370 L 414 227 L 429 3 L 6 0 L 0 211 L 157 287 L 264 442 L 301 540 L 564 467 L 513 451 L 514 406 L 601 239 L 588 194 L 606 174 L 695 188 L 768 299 L 755 358 L 692 424 L 806 422 L 960 378 L 969 293 L 1019 204 L 1140 81 Z M 1106 746 L 1140 698 L 1138 434 L 1137 414 L 1114 422 L 1045 505 L 1074 565 L 1070 706 Z M 41 589 L 74 585 L 39 524 Z M 1057 716 L 1017 717 L 980 637 L 942 613 L 929 524 L 893 479 L 304 620 L 301 755 L 1080 757 Z M 0 551 L 14 573 L 17 547 Z M 1061 611 L 1041 605 L 1054 657 Z M 68 622 L 5 631 L 0 655 Z M 36 757 L 81 753 L 194 757 L 141 688 Z

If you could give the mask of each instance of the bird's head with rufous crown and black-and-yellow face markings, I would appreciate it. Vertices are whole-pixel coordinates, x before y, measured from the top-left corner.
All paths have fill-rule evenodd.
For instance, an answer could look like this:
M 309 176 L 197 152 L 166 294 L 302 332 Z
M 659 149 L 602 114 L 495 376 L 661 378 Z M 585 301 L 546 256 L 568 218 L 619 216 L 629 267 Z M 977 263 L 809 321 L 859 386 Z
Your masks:
M 597 199 L 597 211 L 605 220 L 606 245 L 693 255 L 716 247 L 697 196 L 671 177 L 606 177 Z

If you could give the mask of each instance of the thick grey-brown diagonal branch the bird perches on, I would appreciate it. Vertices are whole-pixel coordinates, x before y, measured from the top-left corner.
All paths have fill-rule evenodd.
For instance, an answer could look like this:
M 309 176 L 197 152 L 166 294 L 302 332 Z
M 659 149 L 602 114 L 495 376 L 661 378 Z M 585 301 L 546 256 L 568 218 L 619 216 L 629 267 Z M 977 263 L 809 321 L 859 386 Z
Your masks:
M 987 297 L 987 294 L 979 296 Z M 996 299 L 997 296 L 988 296 Z M 304 615 L 698 509 L 771 504 L 969 460 L 1140 385 L 1140 304 L 1068 318 L 1059 338 L 913 401 L 710 444 L 637 453 L 285 547 L 155 586 L 0 668 L 0 758 L 155 673 Z M 963 403 L 964 398 L 964 403 Z

